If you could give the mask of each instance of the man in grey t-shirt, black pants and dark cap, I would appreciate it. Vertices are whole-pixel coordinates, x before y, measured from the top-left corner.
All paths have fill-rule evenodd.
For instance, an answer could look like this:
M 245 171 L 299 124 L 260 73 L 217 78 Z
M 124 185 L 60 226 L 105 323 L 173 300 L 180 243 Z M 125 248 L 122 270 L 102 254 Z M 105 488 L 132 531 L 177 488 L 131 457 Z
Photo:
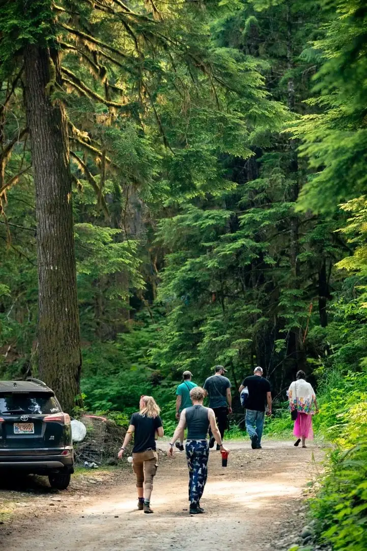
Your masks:
M 226 372 L 223 365 L 216 365 L 215 375 L 208 377 L 203 386 L 205 395 L 209 396 L 209 408 L 214 410 L 222 440 L 227 428 L 228 414 L 232 413 L 231 381 L 224 376 Z M 214 446 L 214 441 L 210 434 L 209 447 Z M 218 444 L 216 449 L 219 450 Z

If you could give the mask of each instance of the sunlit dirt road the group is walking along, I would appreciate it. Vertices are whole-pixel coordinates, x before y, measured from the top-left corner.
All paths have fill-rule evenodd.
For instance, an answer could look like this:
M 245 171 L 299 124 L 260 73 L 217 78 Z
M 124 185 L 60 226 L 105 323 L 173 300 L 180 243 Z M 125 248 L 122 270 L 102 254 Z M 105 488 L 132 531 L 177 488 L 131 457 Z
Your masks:
M 70 503 L 68 492 L 57 495 L 53 514 L 18 518 L 2 541 L 3 551 L 263 551 L 280 547 L 280 534 L 296 538 L 304 524 L 305 485 L 319 470 L 322 452 L 310 445 L 264 442 L 251 450 L 233 442 L 229 466 L 221 467 L 212 451 L 201 505 L 204 515 L 190 516 L 184 453 L 162 460 L 154 480 L 154 515 L 136 510 L 135 479 L 94 497 Z M 125 460 L 126 461 L 126 460 Z M 66 506 L 65 506 L 66 505 Z M 57 509 L 57 510 L 56 510 Z M 36 512 L 36 511 L 35 511 Z M 56 514 L 57 513 L 57 514 Z

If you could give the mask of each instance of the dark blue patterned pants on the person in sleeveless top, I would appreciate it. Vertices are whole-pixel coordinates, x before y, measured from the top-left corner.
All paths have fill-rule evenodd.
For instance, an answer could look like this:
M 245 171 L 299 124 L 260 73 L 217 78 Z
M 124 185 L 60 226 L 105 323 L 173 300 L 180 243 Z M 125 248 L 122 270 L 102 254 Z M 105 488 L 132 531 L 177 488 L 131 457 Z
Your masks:
M 188 499 L 196 506 L 203 495 L 208 477 L 209 445 L 205 440 L 186 442 L 186 458 L 189 473 Z

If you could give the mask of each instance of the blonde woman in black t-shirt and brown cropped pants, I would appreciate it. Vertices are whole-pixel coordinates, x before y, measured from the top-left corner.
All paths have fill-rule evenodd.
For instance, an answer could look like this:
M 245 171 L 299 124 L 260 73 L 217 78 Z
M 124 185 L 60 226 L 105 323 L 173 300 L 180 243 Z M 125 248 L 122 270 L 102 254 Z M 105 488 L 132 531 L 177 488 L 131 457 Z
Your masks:
M 119 459 L 124 455 L 127 444 L 134 434 L 132 449 L 132 468 L 136 474 L 138 492 L 138 509 L 144 513 L 152 513 L 150 507 L 153 489 L 153 478 L 157 473 L 158 455 L 155 447 L 155 435 L 163 436 L 160 409 L 152 396 L 142 396 L 139 403 L 140 411 L 131 415 L 129 429 L 124 444 L 119 451 Z M 144 495 L 145 494 L 145 495 Z

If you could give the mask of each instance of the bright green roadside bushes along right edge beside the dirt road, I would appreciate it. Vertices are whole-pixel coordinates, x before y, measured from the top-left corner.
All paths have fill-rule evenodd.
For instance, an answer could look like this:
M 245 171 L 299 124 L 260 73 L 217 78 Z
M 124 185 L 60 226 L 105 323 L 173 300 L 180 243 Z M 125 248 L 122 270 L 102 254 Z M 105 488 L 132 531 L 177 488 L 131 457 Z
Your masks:
M 363 295 L 362 295 L 363 296 Z M 367 542 L 365 488 L 367 442 L 367 372 L 365 364 L 365 309 L 361 299 L 340 300 L 337 316 L 327 328 L 335 352 L 322 365 L 319 415 L 314 428 L 336 445 L 313 500 L 318 534 L 333 549 L 362 551 Z M 331 339 L 330 339 L 331 341 Z M 354 365 L 354 371 L 349 371 Z

